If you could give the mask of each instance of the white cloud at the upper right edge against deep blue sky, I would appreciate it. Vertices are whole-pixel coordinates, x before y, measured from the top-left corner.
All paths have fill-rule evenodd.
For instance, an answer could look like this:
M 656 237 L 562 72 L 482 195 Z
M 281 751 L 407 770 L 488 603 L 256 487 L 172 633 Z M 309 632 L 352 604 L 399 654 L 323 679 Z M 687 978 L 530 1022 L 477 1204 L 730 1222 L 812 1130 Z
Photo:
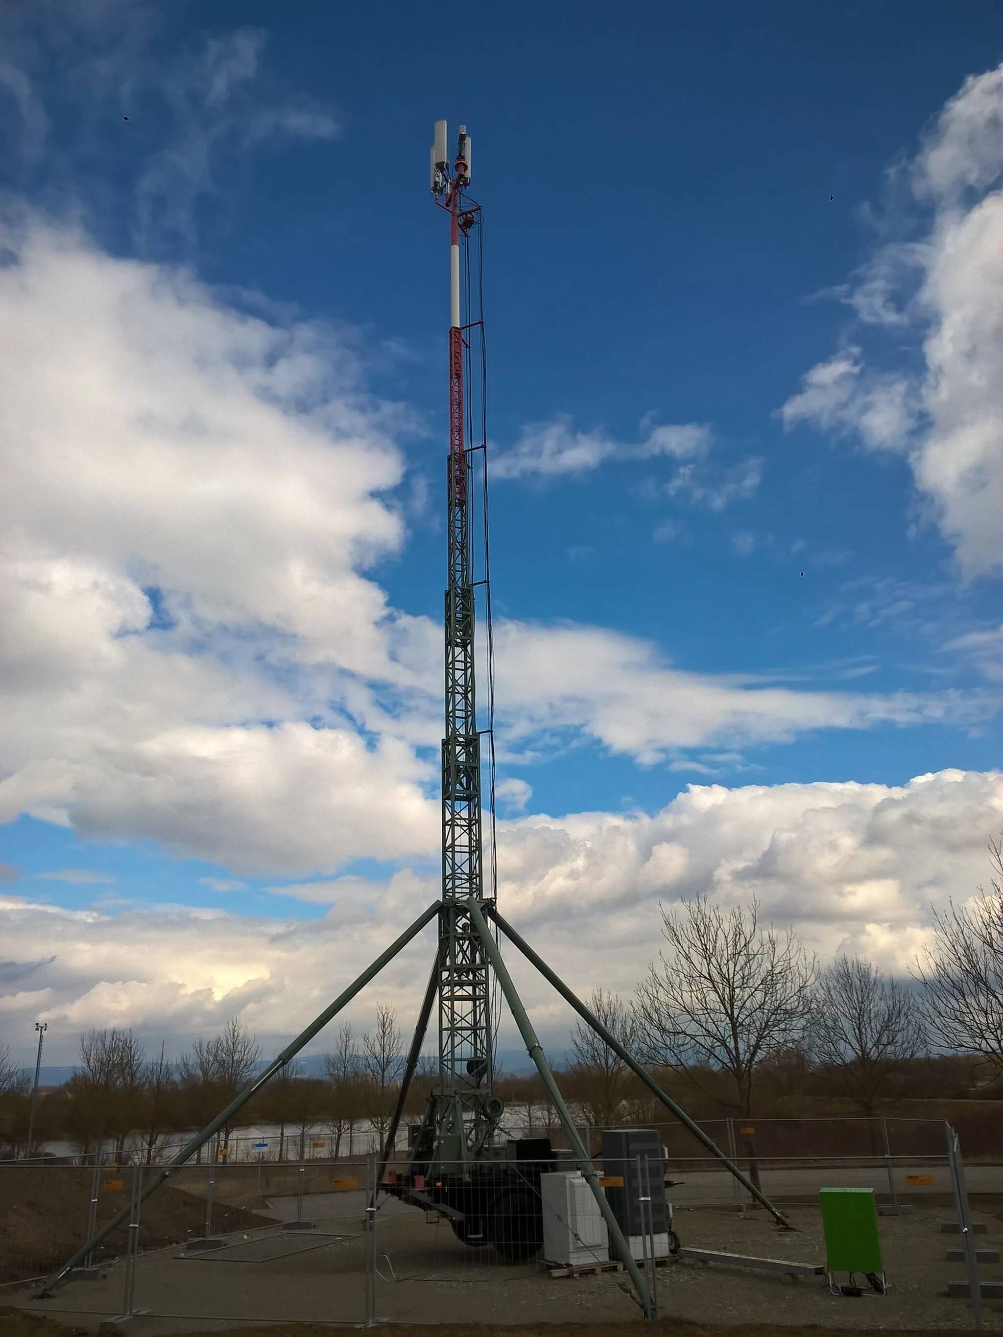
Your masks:
M 1003 66 L 968 78 L 909 164 L 921 243 L 884 246 L 848 298 L 864 324 L 921 337 L 923 370 L 869 365 L 847 345 L 804 377 L 788 427 L 855 432 L 908 452 L 960 570 L 1003 570 Z M 905 287 L 896 303 L 896 286 Z

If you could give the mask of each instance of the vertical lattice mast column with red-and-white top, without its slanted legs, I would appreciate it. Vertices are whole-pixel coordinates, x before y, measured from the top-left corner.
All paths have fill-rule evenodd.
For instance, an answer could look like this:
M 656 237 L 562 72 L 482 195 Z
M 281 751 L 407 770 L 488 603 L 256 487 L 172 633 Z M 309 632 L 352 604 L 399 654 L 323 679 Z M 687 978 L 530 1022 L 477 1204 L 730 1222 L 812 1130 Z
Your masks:
M 488 878 L 487 893 L 484 888 L 471 525 L 472 455 L 483 452 L 485 443 L 467 440 L 472 336 L 480 348 L 483 330 L 480 283 L 469 283 L 471 234 L 480 229 L 481 210 L 465 194 L 471 179 L 471 139 L 465 126 L 460 126 L 451 163 L 445 122 L 436 122 L 431 158 L 432 193 L 449 218 L 449 455 L 439 1088 L 432 1092 L 425 1126 L 429 1134 L 435 1128 L 436 1157 L 456 1163 L 488 1150 L 502 1112 L 502 1102 L 492 1091 L 491 968 L 463 904 L 493 901 L 495 894 L 493 877 Z M 479 279 L 479 250 L 476 263 Z M 467 277 L 465 285 L 461 277 Z M 431 1150 L 432 1139 L 423 1140 Z

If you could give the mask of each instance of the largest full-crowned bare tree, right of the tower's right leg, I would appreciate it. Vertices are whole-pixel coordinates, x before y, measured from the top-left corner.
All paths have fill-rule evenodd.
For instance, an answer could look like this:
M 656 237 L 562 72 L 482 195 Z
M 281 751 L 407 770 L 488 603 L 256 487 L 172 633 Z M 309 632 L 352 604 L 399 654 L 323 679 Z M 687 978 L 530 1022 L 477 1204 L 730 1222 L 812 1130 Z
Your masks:
M 758 1067 L 800 1043 L 817 969 L 793 931 L 760 924 L 758 904 L 722 910 L 706 898 L 662 908 L 667 952 L 637 992 L 650 1063 L 729 1074 L 734 1106 L 753 1107 Z

